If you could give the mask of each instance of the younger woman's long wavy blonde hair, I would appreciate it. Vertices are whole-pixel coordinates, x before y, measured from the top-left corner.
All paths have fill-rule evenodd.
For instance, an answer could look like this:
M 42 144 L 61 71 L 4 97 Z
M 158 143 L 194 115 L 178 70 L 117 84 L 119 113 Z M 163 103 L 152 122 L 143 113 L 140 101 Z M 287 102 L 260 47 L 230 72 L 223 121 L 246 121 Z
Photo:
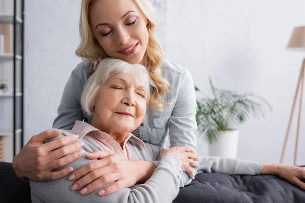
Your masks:
M 89 6 L 93 0 L 83 0 L 81 4 L 79 32 L 80 44 L 75 53 L 87 61 L 93 71 L 108 54 L 101 47 L 89 24 Z M 149 106 L 152 110 L 163 111 L 162 97 L 169 90 L 170 84 L 162 77 L 161 67 L 163 63 L 163 50 L 156 38 L 156 26 L 158 23 L 156 12 L 147 0 L 133 0 L 143 15 L 147 18 L 148 45 L 146 49 L 146 69 L 150 79 L 155 83 L 156 89 L 151 92 Z

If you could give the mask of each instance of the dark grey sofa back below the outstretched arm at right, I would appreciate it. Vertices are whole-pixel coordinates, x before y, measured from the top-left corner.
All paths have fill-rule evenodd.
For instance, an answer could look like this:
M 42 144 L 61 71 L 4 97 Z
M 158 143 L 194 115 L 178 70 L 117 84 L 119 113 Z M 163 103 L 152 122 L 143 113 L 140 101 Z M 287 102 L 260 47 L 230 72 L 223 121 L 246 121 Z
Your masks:
M 202 173 L 173 202 L 305 202 L 305 191 L 278 176 Z

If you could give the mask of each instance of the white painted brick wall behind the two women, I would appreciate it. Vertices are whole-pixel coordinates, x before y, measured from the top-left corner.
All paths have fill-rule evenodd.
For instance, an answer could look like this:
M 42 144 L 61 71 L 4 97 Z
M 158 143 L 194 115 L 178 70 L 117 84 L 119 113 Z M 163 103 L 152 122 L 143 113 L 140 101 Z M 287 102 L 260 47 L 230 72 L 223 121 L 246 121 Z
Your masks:
M 153 0 L 151 0 L 153 1 Z M 71 71 L 80 61 L 80 0 L 25 2 L 25 141 L 51 127 Z M 165 1 L 157 1 L 157 3 Z M 303 53 L 285 49 L 292 28 L 305 22 L 305 2 L 167 0 L 158 37 L 167 58 L 187 67 L 197 86 L 253 92 L 273 108 L 261 121 L 240 126 L 238 157 L 278 162 Z M 275 4 L 276 3 L 276 4 Z M 295 117 L 296 118 L 296 117 Z M 295 121 L 295 120 L 294 120 Z M 285 163 L 292 163 L 296 122 Z M 302 125 L 305 124 L 305 115 Z M 301 128 L 300 143 L 305 143 Z M 200 155 L 207 155 L 204 141 Z M 304 163 L 300 146 L 298 163 Z

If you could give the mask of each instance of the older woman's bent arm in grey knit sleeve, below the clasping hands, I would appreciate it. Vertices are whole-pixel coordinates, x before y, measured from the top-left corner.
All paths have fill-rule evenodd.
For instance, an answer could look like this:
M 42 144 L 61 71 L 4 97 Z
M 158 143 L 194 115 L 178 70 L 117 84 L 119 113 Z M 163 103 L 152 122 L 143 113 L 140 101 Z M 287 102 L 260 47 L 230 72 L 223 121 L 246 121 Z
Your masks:
M 79 168 L 85 162 L 92 161 L 95 160 L 82 156 L 68 166 Z M 66 176 L 55 181 L 31 181 L 32 198 L 43 202 L 171 202 L 179 192 L 180 170 L 180 161 L 171 154 L 164 154 L 150 179 L 137 187 L 123 188 L 115 193 L 99 196 L 97 193 L 102 187 L 93 193 L 81 195 L 79 191 L 70 189 L 73 182 Z

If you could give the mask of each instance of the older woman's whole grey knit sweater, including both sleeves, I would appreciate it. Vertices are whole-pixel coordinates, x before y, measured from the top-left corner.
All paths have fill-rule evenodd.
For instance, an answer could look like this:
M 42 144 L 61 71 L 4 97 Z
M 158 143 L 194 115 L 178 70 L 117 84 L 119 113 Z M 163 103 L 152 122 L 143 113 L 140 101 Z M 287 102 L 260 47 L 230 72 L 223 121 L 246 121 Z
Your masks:
M 66 134 L 73 133 L 71 130 L 63 130 Z M 60 136 L 60 137 L 62 137 Z M 78 170 L 89 162 L 85 154 L 102 150 L 96 141 L 88 136 L 82 138 L 84 146 L 82 157 L 64 166 L 72 166 Z M 132 139 L 126 143 L 131 152 L 132 160 L 153 161 L 158 160 L 162 148 L 145 143 L 145 148 Z M 244 161 L 239 159 L 221 157 L 200 157 L 198 173 L 219 172 L 226 174 L 260 174 L 262 163 Z M 57 168 L 55 171 L 62 170 Z M 70 188 L 74 181 L 69 180 L 69 176 L 51 181 L 30 181 L 31 195 L 33 202 L 172 202 L 179 192 L 181 178 L 181 162 L 173 155 L 166 153 L 161 157 L 158 167 L 153 175 L 144 183 L 137 184 L 130 188 L 121 189 L 115 193 L 99 196 L 98 192 L 113 183 L 107 184 L 96 191 L 82 195 L 79 191 L 72 191 Z

